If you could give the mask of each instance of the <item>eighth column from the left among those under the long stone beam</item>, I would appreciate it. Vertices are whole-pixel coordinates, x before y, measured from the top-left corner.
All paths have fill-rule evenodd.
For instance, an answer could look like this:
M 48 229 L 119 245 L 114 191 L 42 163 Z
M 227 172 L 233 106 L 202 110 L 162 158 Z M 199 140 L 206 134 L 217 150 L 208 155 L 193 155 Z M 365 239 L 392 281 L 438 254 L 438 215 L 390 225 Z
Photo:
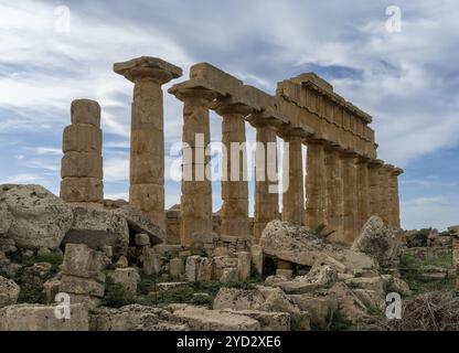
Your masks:
M 357 231 L 371 217 L 370 214 L 370 180 L 369 180 L 369 162 L 370 158 L 359 156 L 356 159 L 357 169 Z

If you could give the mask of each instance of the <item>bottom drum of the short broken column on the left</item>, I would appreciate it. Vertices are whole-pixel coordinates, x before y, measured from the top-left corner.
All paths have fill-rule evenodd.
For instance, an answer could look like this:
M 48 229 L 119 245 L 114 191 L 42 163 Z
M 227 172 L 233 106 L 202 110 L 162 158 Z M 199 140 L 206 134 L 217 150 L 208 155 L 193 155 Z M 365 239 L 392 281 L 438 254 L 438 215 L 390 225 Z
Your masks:
M 61 181 L 61 199 L 99 203 L 104 199 L 104 183 L 97 178 L 65 178 Z

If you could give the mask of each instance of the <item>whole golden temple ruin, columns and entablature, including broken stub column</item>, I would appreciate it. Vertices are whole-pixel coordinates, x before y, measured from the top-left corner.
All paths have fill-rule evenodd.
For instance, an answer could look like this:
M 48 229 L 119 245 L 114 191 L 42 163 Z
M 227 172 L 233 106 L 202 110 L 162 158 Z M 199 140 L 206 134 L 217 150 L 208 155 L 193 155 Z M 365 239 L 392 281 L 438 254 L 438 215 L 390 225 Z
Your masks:
M 182 69 L 142 56 L 115 64 L 114 71 L 134 83 L 129 203 L 169 233 L 168 244 L 177 245 L 173 256 L 170 248 L 157 249 L 162 255 L 169 252 L 166 265 L 150 250 L 142 255 L 148 272 L 161 272 L 161 266 L 167 266 L 169 272 L 189 276 L 190 280 L 196 276 L 243 280 L 249 276 L 250 253 L 252 263 L 263 270 L 258 243 L 267 224 L 275 220 L 321 229 L 332 243 L 346 245 L 354 243 L 373 215 L 388 226 L 401 227 L 397 179 L 403 170 L 377 158 L 371 116 L 313 73 L 285 79 L 278 83 L 275 95 L 269 95 L 207 63 L 193 65 L 190 79 L 169 89 L 183 103 L 183 173 L 181 203 L 166 211 L 167 137 L 161 86 L 180 77 Z M 211 110 L 222 118 L 222 143 L 226 148 L 222 167 L 227 178 L 221 180 L 223 205 L 218 214 L 212 212 L 212 181 L 205 175 L 211 163 Z M 253 218 L 246 178 L 246 122 L 256 129 L 257 140 Z M 282 165 L 279 140 L 284 141 Z M 238 149 L 234 151 L 235 142 Z M 62 199 L 103 203 L 97 103 L 73 103 L 63 150 Z M 276 176 L 284 175 L 284 185 L 279 185 L 279 178 L 271 178 L 273 171 Z M 195 256 L 202 254 L 230 259 L 212 264 L 216 269 L 198 275 L 195 263 L 205 258 Z M 276 266 L 278 272 L 291 271 L 291 264 L 282 259 Z

